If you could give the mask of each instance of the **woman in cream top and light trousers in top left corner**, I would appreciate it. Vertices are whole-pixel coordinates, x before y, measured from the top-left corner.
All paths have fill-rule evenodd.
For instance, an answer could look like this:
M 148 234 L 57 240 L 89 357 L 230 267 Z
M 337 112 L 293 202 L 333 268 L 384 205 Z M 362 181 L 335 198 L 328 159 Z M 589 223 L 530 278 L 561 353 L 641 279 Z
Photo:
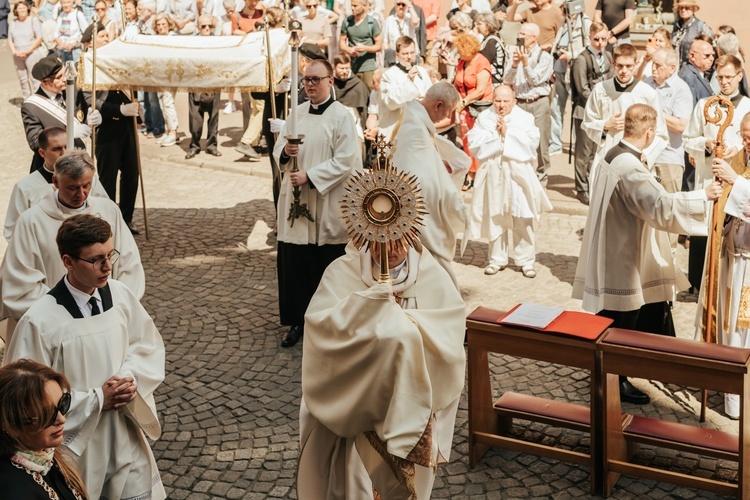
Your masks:
M 37 50 L 42 44 L 42 25 L 34 16 L 30 16 L 26 2 L 13 6 L 13 19 L 8 29 L 8 49 L 13 54 L 18 81 L 21 83 L 23 98 L 26 99 L 39 88 L 39 82 L 31 76 L 31 68 L 39 62 L 42 55 Z

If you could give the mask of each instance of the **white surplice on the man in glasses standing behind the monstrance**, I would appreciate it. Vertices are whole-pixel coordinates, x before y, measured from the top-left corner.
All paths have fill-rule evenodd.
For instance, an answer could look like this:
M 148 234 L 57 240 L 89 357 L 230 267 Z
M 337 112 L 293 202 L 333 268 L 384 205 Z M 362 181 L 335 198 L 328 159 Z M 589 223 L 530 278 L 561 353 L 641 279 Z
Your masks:
M 292 161 L 285 164 L 279 161 L 287 143 L 284 136 L 289 134 L 287 120 L 273 151 L 285 174 L 279 194 L 277 239 L 295 245 L 344 244 L 348 240 L 339 204 L 346 193 L 346 181 L 355 170 L 362 169 L 357 129 L 351 113 L 340 102 L 321 104 L 325 107 L 322 114 L 314 113 L 311 106 L 308 101 L 298 110 L 297 133 L 305 136 L 299 147 L 298 167 L 309 180 L 300 186 L 300 203 L 307 205 L 315 220 L 311 222 L 305 217 L 287 220 L 294 200 L 294 188 L 287 175 Z

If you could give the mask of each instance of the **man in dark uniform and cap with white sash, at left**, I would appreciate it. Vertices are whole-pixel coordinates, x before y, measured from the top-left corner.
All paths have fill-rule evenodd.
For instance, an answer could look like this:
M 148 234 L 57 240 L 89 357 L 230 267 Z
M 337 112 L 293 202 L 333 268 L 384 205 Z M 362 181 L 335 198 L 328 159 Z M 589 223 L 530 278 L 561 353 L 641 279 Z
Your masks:
M 26 142 L 34 152 L 29 172 L 34 172 L 44 165 L 44 159 L 39 155 L 39 134 L 47 127 L 67 127 L 65 103 L 65 69 L 57 54 L 51 54 L 41 59 L 31 69 L 31 76 L 39 80 L 39 89 L 30 95 L 21 105 L 21 119 L 26 132 Z M 76 99 L 76 107 L 81 105 Z M 70 133 L 70 131 L 68 131 Z M 91 128 L 75 122 L 75 147 L 85 149 L 82 139 L 91 136 Z

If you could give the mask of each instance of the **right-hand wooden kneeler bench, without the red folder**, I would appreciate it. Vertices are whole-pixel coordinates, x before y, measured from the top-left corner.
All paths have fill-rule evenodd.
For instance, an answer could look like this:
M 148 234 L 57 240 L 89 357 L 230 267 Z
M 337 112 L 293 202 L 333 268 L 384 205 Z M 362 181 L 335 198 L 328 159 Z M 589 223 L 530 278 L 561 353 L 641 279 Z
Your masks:
M 599 340 L 604 426 L 604 496 L 621 474 L 750 499 L 750 349 L 612 328 Z M 739 435 L 655 418 L 622 420 L 619 376 L 638 377 L 740 395 Z M 624 425 L 623 425 L 624 424 Z M 738 463 L 738 483 L 693 477 L 630 460 L 639 444 L 669 448 Z

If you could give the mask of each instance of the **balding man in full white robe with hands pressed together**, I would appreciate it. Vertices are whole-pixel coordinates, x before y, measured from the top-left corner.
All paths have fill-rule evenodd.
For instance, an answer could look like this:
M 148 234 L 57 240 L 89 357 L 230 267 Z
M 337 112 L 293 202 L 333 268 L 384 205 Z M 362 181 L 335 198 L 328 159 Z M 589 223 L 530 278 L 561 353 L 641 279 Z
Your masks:
M 469 131 L 469 148 L 480 162 L 471 203 L 471 237 L 490 240 L 485 274 L 505 269 L 512 238 L 516 265 L 533 278 L 534 221 L 552 210 L 552 204 L 534 172 L 539 145 L 534 115 L 515 104 L 511 87 L 495 88 L 493 106 L 479 114 Z

